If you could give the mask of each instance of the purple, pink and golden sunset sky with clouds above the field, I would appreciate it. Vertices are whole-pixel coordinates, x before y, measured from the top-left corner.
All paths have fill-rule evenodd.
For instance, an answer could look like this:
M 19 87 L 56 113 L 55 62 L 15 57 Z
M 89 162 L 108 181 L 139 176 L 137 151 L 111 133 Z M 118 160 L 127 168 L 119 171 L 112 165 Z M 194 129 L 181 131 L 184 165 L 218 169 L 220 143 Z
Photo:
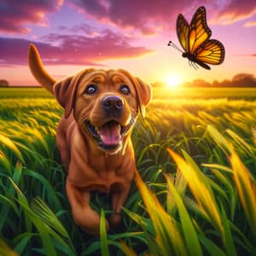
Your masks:
M 181 54 L 177 15 L 190 22 L 206 6 L 212 38 L 226 49 L 222 65 L 194 70 Z M 0 79 L 37 84 L 27 67 L 30 43 L 36 44 L 55 79 L 84 67 L 125 68 L 148 82 L 168 73 L 182 81 L 231 79 L 256 74 L 256 0 L 1 0 Z

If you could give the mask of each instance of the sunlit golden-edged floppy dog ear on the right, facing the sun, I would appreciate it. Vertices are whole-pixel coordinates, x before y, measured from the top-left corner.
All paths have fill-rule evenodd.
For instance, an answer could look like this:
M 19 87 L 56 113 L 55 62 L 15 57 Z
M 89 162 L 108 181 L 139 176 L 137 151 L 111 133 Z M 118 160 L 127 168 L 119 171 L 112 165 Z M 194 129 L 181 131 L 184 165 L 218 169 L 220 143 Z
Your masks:
M 150 84 L 144 83 L 141 79 L 135 78 L 134 80 L 139 104 L 138 107 L 144 118 L 146 115 L 146 107 L 152 99 L 152 87 Z

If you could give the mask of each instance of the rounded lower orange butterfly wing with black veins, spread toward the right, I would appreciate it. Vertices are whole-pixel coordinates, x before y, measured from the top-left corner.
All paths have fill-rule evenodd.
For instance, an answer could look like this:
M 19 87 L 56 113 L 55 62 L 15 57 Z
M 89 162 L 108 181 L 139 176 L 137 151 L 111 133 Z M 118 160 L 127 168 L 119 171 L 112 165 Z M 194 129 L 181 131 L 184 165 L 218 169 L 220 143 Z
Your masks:
M 195 58 L 198 61 L 212 65 L 221 64 L 224 61 L 225 49 L 224 45 L 218 40 L 210 39 L 201 44 L 195 50 Z

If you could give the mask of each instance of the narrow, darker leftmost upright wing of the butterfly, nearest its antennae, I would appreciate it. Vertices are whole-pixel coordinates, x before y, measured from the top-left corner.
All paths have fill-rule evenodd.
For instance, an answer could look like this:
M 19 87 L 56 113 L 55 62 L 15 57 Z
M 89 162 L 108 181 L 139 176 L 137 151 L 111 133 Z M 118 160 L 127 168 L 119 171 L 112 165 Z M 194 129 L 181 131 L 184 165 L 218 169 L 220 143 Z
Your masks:
M 189 23 L 183 15 L 177 16 L 176 23 L 177 38 L 185 52 L 189 51 Z

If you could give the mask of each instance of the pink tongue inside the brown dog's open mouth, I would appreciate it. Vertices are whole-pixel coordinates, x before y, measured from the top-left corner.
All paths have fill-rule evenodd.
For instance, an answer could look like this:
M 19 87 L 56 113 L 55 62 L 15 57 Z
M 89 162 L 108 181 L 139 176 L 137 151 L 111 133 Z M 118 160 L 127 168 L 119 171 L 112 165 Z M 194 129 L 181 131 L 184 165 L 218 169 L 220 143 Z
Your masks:
M 119 125 L 116 122 L 108 122 L 108 124 L 99 128 L 99 135 L 102 138 L 102 143 L 116 145 L 120 140 Z

